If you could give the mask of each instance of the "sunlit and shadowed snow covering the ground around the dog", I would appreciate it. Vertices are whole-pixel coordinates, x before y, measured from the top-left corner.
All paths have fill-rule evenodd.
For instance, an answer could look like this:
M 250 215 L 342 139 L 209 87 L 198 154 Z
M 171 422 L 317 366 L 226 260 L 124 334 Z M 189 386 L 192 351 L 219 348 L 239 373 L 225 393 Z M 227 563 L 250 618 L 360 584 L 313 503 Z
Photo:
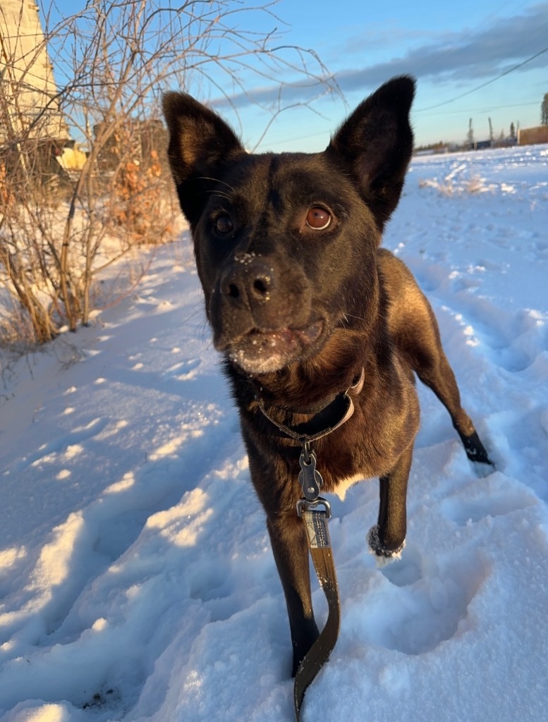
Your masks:
M 376 481 L 334 500 L 342 629 L 304 722 L 548 718 L 547 228 L 546 146 L 412 163 L 385 245 L 497 470 L 477 477 L 422 388 L 402 560 L 367 553 Z M 291 720 L 282 589 L 188 239 L 93 328 L 2 363 L 2 719 Z

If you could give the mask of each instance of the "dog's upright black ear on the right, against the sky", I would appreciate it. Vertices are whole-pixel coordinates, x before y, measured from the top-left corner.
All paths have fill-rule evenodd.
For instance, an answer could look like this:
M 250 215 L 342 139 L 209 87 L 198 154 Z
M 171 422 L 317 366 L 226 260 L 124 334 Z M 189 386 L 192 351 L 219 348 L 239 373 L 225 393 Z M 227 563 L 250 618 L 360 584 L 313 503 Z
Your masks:
M 326 150 L 350 168 L 380 230 L 398 204 L 411 160 L 414 87 L 408 75 L 389 80 L 358 105 Z

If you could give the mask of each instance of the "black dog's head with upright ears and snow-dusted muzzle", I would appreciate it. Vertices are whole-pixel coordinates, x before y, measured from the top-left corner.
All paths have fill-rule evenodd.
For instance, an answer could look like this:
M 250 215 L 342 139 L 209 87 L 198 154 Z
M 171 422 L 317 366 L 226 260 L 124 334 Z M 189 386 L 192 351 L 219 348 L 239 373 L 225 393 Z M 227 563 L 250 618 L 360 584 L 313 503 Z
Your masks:
M 313 357 L 376 312 L 376 249 L 412 154 L 410 77 L 364 100 L 321 153 L 251 155 L 189 95 L 164 113 L 214 346 L 251 375 Z

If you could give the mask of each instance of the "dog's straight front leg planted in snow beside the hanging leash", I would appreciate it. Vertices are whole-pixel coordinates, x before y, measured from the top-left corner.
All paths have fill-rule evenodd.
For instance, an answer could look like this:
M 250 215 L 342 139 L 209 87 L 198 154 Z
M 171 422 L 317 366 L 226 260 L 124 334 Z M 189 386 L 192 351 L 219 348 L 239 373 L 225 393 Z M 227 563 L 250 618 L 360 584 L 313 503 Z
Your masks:
M 292 510 L 292 513 L 280 515 L 275 519 L 268 518 L 266 526 L 290 618 L 293 643 L 292 676 L 295 677 L 300 662 L 319 634 L 310 595 L 305 525 L 297 516 L 296 510 Z

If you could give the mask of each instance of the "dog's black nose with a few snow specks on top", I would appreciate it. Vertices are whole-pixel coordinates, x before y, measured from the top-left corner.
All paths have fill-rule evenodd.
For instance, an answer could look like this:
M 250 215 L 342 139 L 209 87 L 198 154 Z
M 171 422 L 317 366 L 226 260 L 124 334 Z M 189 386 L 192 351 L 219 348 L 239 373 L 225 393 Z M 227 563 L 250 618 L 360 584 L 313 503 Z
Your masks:
M 274 271 L 254 257 L 236 258 L 221 277 L 221 293 L 236 305 L 253 306 L 270 299 Z

